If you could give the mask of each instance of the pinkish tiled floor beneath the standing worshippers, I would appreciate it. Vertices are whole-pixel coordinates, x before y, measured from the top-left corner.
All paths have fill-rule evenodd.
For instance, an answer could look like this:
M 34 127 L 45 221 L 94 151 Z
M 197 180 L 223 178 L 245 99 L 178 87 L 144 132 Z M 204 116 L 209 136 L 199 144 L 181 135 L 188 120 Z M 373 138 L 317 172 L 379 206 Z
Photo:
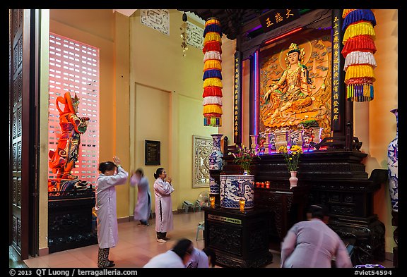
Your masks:
M 188 238 L 195 247 L 204 248 L 202 232 L 196 240 L 198 223 L 204 221 L 204 211 L 187 214 L 174 214 L 175 229 L 167 233 L 171 238 L 167 243 L 159 243 L 155 237 L 154 220 L 150 226 L 138 226 L 138 221 L 119 223 L 119 242 L 110 249 L 110 259 L 114 260 L 115 268 L 141 268 L 151 257 L 170 250 L 178 239 Z M 273 262 L 267 268 L 280 267 L 280 253 L 273 253 Z M 90 245 L 73 250 L 65 250 L 24 260 L 29 268 L 96 268 L 98 245 Z M 384 261 L 383 266 L 393 267 L 391 261 Z M 10 264 L 10 267 L 11 266 Z M 16 266 L 20 267 L 20 266 Z

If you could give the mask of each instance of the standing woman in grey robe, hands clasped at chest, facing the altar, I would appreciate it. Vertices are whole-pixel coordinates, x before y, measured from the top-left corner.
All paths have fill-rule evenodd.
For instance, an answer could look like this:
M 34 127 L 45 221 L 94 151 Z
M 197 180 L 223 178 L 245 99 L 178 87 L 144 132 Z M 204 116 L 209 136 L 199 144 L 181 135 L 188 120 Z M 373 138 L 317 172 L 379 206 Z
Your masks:
M 170 239 L 167 238 L 167 232 L 174 229 L 171 200 L 174 187 L 171 185 L 172 178 L 167 178 L 167 172 L 162 167 L 157 168 L 154 178 L 155 231 L 157 232 L 157 241 L 165 243 Z

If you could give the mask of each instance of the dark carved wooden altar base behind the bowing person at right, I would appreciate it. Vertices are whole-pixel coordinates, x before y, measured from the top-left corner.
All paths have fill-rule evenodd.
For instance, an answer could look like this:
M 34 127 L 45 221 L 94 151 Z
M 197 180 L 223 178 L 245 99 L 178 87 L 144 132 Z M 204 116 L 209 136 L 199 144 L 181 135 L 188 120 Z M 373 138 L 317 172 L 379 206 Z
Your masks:
M 228 147 L 234 149 L 234 147 Z M 228 151 L 220 174 L 240 173 Z M 358 151 L 314 151 L 301 155 L 297 187 L 290 189 L 290 173 L 282 154 L 264 154 L 250 172 L 255 182 L 270 188 L 254 189 L 254 207 L 269 210 L 270 247 L 279 250 L 281 240 L 297 221 L 305 220 L 309 204 L 325 204 L 329 226 L 353 244 L 353 264 L 384 261 L 384 224 L 374 214 L 374 192 L 388 180 L 387 169 L 374 169 L 368 177 Z

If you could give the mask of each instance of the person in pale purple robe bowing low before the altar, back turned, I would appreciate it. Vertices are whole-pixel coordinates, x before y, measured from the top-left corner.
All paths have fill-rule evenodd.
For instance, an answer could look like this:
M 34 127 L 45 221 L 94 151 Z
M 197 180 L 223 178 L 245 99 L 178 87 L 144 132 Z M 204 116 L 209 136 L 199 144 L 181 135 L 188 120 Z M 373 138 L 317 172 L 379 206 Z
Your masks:
M 282 268 L 329 268 L 333 261 L 337 268 L 353 266 L 343 240 L 326 225 L 326 215 L 324 205 L 311 205 L 309 220 L 295 223 L 288 230 L 281 243 Z

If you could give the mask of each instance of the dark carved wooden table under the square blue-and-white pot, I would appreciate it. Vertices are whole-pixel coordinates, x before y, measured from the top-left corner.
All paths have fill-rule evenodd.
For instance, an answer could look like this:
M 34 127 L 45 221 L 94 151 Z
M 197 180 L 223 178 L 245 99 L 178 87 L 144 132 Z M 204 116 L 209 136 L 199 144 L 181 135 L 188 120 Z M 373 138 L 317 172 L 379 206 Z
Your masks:
M 203 209 L 205 247 L 216 252 L 218 265 L 246 268 L 271 263 L 268 210 Z

